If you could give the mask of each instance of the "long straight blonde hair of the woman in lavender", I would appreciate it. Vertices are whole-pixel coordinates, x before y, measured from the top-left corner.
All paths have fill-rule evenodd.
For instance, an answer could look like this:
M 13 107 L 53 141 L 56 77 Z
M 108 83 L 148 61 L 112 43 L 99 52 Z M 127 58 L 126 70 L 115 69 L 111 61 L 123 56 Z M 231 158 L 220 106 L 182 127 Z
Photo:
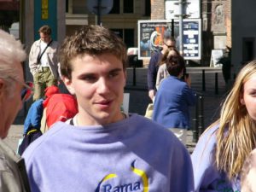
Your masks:
M 216 166 L 231 179 L 241 172 L 247 155 L 256 145 L 256 125 L 241 104 L 243 85 L 256 73 L 256 61 L 243 67 L 226 97 L 217 131 Z

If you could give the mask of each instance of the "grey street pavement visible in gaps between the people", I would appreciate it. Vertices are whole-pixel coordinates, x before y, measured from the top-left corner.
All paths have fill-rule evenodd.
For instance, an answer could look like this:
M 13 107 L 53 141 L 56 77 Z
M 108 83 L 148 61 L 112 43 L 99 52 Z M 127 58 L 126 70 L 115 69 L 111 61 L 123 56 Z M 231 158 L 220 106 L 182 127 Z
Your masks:
M 202 90 L 202 70 L 205 70 L 205 87 Z M 136 79 L 134 79 L 134 72 L 136 72 Z M 203 125 L 205 129 L 214 120 L 218 119 L 220 104 L 223 102 L 226 95 L 226 86 L 219 68 L 210 67 L 196 67 L 188 68 L 191 77 L 191 87 L 195 92 L 203 98 Z M 216 93 L 216 74 L 218 74 L 218 94 Z M 150 99 L 147 90 L 147 68 L 137 68 L 136 71 L 132 68 L 127 69 L 127 80 L 125 92 L 130 93 L 129 112 L 145 114 L 146 108 Z M 195 108 L 190 109 L 191 125 L 195 125 Z M 22 137 L 24 114 L 20 114 L 16 119 L 14 125 L 11 126 L 9 135 L 5 141 L 11 148 L 16 150 L 18 140 Z M 192 127 L 193 128 L 193 127 Z M 196 141 L 193 137 L 193 132 L 188 131 L 186 146 L 191 153 L 195 148 Z

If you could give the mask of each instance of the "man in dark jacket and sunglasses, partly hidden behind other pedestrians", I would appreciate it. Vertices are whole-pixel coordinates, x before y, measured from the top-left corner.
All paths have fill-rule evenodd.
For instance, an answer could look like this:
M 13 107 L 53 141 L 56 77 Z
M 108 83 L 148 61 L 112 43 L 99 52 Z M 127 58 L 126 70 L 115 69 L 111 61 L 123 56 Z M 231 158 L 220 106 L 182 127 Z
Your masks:
M 162 49 L 151 56 L 148 65 L 148 96 L 153 101 L 155 96 L 156 76 L 159 68 L 159 62 L 167 49 L 175 48 L 175 39 L 171 36 L 165 36 Z

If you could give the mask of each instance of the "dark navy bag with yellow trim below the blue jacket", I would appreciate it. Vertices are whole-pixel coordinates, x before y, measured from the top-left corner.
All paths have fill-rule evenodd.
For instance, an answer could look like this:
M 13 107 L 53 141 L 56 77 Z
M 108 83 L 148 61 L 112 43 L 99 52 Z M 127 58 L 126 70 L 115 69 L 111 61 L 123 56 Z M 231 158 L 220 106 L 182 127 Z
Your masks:
M 28 131 L 25 137 L 23 138 L 22 142 L 20 143 L 18 154 L 20 154 L 21 156 L 25 149 L 40 136 L 42 136 L 42 132 L 40 130 L 32 129 Z

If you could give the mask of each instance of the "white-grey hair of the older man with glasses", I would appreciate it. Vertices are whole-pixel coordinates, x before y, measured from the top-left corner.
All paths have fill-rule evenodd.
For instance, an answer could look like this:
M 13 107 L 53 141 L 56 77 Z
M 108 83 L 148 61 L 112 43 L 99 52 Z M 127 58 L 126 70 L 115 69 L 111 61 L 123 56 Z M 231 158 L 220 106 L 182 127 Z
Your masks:
M 26 52 L 19 40 L 8 32 L 0 30 L 0 79 L 7 82 L 7 90 L 11 93 L 11 80 L 20 80 L 17 65 L 26 60 Z

